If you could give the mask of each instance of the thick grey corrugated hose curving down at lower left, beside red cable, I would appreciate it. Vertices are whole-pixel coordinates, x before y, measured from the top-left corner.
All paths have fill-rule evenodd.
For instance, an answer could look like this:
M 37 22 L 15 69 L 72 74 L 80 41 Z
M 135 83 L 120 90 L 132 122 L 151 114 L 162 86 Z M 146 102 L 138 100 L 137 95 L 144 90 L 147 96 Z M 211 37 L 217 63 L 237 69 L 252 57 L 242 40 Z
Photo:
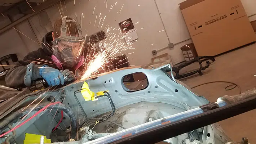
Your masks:
M 65 104 L 62 104 L 62 103 L 57 103 L 54 105 L 49 105 L 49 104 L 50 104 L 49 102 L 40 103 L 38 105 L 32 104 L 27 107 L 23 107 L 14 113 L 9 114 L 7 117 L 5 117 L 3 120 L 0 121 L 0 131 L 3 131 L 4 130 L 3 128 L 5 128 L 6 125 L 8 125 L 10 122 L 17 120 L 20 117 L 23 117 L 24 115 L 28 114 L 30 111 L 31 112 L 39 111 L 40 109 L 42 109 L 48 105 L 48 107 L 46 109 L 58 109 L 60 111 L 65 112 L 70 117 L 70 120 L 71 120 L 70 137 L 72 139 L 74 139 L 76 136 L 76 132 L 77 132 L 77 130 L 76 130 L 77 123 L 76 123 L 75 113 L 72 111 L 72 109 L 70 107 L 66 106 Z

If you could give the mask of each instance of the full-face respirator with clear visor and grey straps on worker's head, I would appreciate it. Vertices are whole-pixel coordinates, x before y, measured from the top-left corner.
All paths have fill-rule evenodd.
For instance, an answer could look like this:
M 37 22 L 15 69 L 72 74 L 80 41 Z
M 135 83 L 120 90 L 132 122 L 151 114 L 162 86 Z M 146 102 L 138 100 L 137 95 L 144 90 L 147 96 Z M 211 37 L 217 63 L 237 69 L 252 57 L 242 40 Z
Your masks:
M 77 17 L 76 17 L 77 18 Z M 67 35 L 69 28 L 66 23 L 74 22 L 77 28 L 75 36 Z M 82 52 L 85 46 L 85 37 L 82 36 L 82 30 L 79 23 L 74 19 L 62 18 L 61 35 L 52 41 L 53 55 L 52 60 L 59 69 L 65 68 L 77 69 L 82 66 L 84 56 Z

